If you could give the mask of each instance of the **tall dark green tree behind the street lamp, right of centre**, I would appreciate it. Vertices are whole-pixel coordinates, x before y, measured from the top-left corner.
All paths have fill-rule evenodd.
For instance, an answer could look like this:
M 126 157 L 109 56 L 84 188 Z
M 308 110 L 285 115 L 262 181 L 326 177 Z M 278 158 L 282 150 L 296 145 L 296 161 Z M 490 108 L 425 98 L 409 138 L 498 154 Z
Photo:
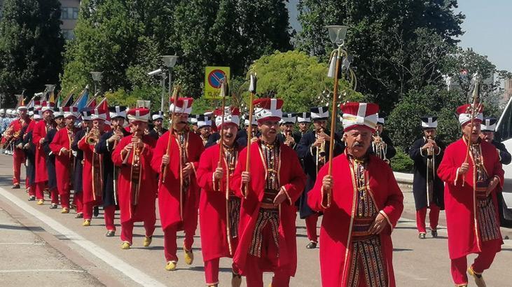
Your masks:
M 425 79 L 418 82 L 417 74 L 410 75 L 407 70 L 422 66 L 424 71 L 436 71 L 435 66 L 427 66 L 423 60 L 417 62 L 421 49 L 411 52 L 410 48 L 424 45 L 425 38 L 432 38 L 426 33 L 438 37 L 436 41 L 447 47 L 457 43 L 455 37 L 462 34 L 464 15 L 455 13 L 455 8 L 457 0 L 300 0 L 299 21 L 303 31 L 298 35 L 299 47 L 325 57 L 331 43 L 324 26 L 349 26 L 346 44 L 356 58 L 360 90 L 389 112 L 415 85 L 429 85 Z M 432 43 L 429 46 L 427 50 L 438 55 L 449 52 L 436 51 L 438 45 L 432 47 Z

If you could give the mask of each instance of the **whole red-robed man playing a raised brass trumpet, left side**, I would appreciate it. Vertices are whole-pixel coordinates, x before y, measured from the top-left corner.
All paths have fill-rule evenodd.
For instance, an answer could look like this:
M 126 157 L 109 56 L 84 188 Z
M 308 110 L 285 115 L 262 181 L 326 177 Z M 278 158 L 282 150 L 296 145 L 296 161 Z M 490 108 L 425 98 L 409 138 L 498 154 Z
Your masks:
M 78 141 L 78 148 L 83 151 L 83 226 L 90 226 L 92 209 L 102 203 L 102 158 L 96 153 L 95 144 L 104 133 L 106 113 L 103 109 L 91 111 L 92 129 Z

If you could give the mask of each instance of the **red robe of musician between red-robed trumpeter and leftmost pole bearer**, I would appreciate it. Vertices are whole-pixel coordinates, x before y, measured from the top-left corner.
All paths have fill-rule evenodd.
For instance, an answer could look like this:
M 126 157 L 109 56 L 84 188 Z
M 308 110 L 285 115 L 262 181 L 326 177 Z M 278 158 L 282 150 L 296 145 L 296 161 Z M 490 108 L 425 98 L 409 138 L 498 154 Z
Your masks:
M 157 174 L 151 169 L 151 158 L 153 157 L 153 148 L 156 141 L 152 137 L 142 137 L 144 148 L 139 155 L 140 165 L 140 188 L 138 203 L 136 206 L 132 202 L 132 192 L 130 185 L 130 176 L 132 173 L 133 151 L 128 153 L 127 163 L 123 165 L 123 156 L 121 151 L 132 142 L 133 135 L 123 137 L 112 152 L 112 162 L 119 167 L 118 172 L 118 197 L 120 208 L 120 221 L 144 221 L 145 219 L 155 218 L 155 200 L 157 193 Z

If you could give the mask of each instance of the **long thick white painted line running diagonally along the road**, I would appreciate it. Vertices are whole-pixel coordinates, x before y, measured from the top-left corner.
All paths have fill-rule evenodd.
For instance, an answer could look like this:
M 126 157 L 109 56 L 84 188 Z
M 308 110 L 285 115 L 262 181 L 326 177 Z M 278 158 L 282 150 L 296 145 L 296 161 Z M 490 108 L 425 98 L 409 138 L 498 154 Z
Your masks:
M 149 276 L 148 274 L 142 272 L 141 270 L 133 267 L 130 264 L 127 264 L 127 262 L 116 257 L 116 255 L 109 253 L 109 251 L 106 251 L 104 248 L 97 246 L 97 244 L 93 243 L 92 241 L 88 241 L 81 235 L 78 235 L 78 233 L 70 230 L 69 228 L 66 228 L 64 225 L 58 223 L 57 221 L 55 221 L 55 219 L 51 218 L 50 216 L 47 216 L 46 214 L 43 214 L 41 211 L 34 209 L 34 207 L 31 207 L 25 201 L 20 200 L 18 197 L 15 197 L 15 195 L 12 195 L 4 188 L 0 188 L 0 195 L 13 202 L 13 204 L 18 205 L 20 209 L 26 211 L 29 214 L 32 214 L 32 216 L 38 218 L 44 224 L 48 225 L 50 228 L 60 233 L 60 235 L 67 237 L 69 241 L 73 241 L 78 246 L 81 246 L 85 251 L 88 251 L 92 255 L 95 255 L 97 258 L 103 260 L 106 264 L 110 265 L 114 269 L 117 269 L 118 271 L 122 272 L 133 281 L 143 286 L 165 286 L 165 284 L 160 283 L 159 281 Z

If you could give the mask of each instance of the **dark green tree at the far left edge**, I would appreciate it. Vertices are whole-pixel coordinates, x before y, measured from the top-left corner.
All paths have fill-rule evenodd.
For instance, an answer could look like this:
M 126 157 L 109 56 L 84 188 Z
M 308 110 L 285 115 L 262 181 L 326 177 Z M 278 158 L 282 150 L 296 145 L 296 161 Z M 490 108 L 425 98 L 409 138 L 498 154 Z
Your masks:
M 0 93 L 6 104 L 14 94 L 34 94 L 57 84 L 62 72 L 64 38 L 57 0 L 6 0 L 0 21 Z

